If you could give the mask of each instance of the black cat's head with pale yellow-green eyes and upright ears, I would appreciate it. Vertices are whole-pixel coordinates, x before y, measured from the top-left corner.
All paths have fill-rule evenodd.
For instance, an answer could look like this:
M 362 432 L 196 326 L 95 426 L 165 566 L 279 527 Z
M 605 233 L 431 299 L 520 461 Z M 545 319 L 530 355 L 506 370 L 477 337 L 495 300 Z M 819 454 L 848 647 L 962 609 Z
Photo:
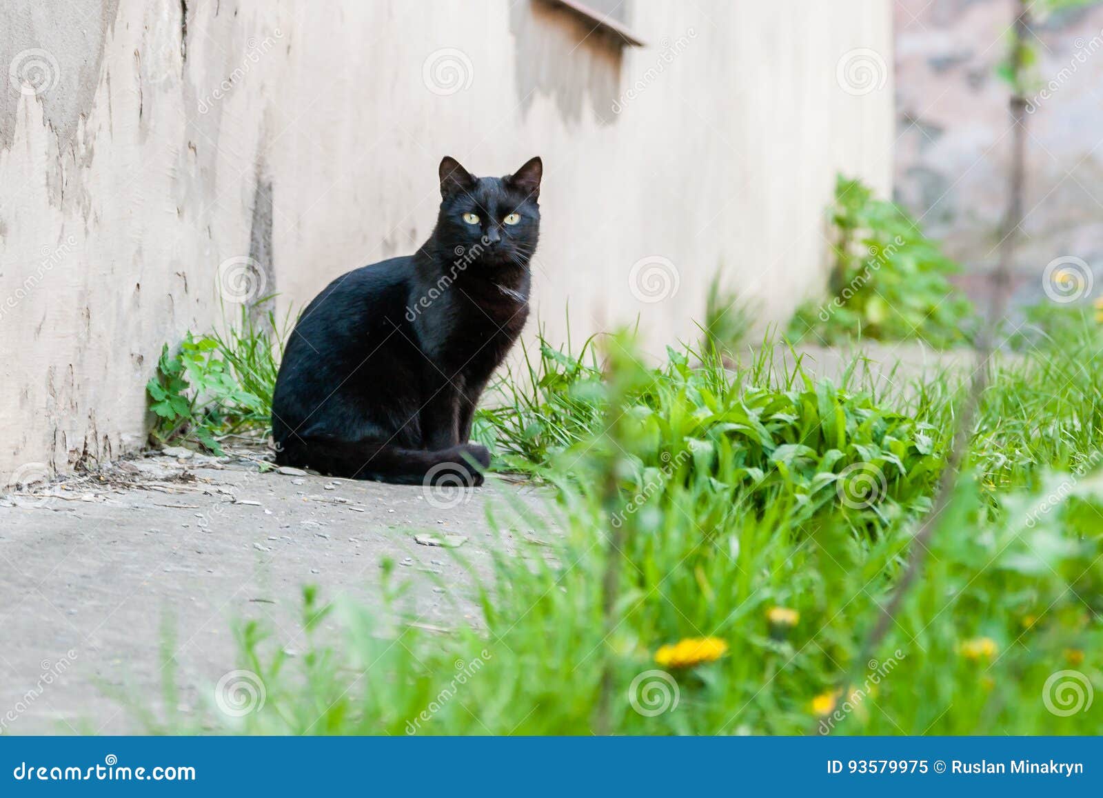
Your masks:
M 533 158 L 513 174 L 476 178 L 446 156 L 440 162 L 438 243 L 472 262 L 526 268 L 539 237 L 536 200 L 543 173 L 543 162 Z

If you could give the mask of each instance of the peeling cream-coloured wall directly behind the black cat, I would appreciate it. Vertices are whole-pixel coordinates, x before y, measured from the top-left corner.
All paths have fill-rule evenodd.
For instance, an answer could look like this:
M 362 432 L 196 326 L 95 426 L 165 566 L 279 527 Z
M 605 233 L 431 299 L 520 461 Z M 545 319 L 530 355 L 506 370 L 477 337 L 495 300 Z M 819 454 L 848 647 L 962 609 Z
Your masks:
M 889 188 L 888 3 L 625 8 L 647 46 L 538 0 L 6 0 L 0 476 L 140 446 L 161 343 L 219 298 L 299 307 L 413 251 L 445 153 L 544 157 L 554 339 L 568 299 L 576 334 L 694 337 L 719 268 L 784 318 L 836 170 Z

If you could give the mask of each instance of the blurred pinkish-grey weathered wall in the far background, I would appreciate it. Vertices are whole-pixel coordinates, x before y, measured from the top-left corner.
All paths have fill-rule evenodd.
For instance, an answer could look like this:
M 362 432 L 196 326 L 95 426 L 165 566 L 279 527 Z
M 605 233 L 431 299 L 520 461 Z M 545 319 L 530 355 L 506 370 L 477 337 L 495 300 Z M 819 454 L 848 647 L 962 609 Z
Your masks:
M 897 199 L 977 277 L 995 265 L 1011 153 L 1007 57 L 1014 0 L 896 3 Z M 1037 14 L 1027 117 L 1026 220 L 1019 299 L 1043 297 L 1041 275 L 1064 257 L 1103 276 L 1103 6 Z M 1084 264 L 1078 267 L 1077 262 Z M 1083 285 L 1083 284 L 1082 284 Z M 1089 286 L 1090 288 L 1090 286 Z M 1059 296 L 1068 292 L 1053 291 Z M 1090 291 L 1089 291 L 1090 292 Z

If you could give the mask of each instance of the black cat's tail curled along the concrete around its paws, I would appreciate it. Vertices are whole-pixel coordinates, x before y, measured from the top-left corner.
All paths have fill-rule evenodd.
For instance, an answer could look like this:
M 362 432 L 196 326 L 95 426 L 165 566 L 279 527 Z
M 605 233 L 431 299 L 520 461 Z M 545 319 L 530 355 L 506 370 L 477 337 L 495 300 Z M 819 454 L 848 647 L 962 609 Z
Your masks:
M 490 451 L 479 444 L 450 449 L 404 449 L 378 440 L 343 440 L 329 435 L 290 435 L 277 446 L 280 466 L 311 468 L 331 477 L 374 479 L 396 485 L 483 482 Z

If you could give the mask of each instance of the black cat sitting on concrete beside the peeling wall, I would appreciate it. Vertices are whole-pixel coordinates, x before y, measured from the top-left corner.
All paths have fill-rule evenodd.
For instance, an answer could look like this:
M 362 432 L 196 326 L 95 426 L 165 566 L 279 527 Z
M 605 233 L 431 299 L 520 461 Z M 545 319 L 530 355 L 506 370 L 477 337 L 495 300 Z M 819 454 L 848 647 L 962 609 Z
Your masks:
M 288 340 L 276 461 L 336 477 L 481 485 L 471 417 L 528 317 L 543 163 L 475 178 L 440 162 L 437 226 L 414 255 L 333 280 Z

